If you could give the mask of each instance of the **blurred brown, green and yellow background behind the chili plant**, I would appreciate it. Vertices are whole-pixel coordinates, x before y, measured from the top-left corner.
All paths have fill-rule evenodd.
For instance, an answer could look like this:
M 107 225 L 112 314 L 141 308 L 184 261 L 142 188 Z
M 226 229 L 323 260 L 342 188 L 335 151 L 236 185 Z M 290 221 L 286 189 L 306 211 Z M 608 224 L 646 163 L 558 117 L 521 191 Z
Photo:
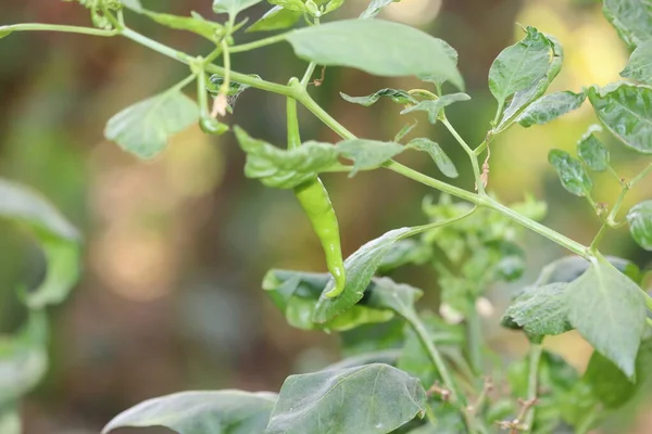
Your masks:
M 70 2 L 1 3 L 0 24 L 89 23 L 87 11 Z M 193 10 L 212 15 L 210 0 L 143 0 L 143 4 L 170 13 Z M 366 0 L 347 0 L 337 14 L 356 16 L 365 7 Z M 268 8 L 259 4 L 248 14 L 258 18 Z M 521 38 L 517 23 L 551 34 L 564 46 L 564 67 L 551 90 L 579 91 L 582 86 L 615 81 L 628 56 L 599 2 L 590 0 L 403 0 L 380 16 L 423 28 L 459 51 L 473 100 L 451 106 L 448 116 L 474 145 L 484 139 L 496 111 L 487 90 L 489 66 L 504 47 Z M 197 54 L 210 50 L 193 35 L 130 14 L 127 20 L 179 50 Z M 236 40 L 258 37 L 239 34 Z M 301 76 L 305 66 L 289 44 L 233 59 L 234 69 L 283 84 Z M 288 374 L 316 370 L 338 358 L 336 336 L 290 328 L 261 290 L 268 268 L 326 268 L 318 240 L 291 192 L 244 178 L 244 156 L 233 135 L 209 137 L 192 127 L 175 136 L 162 156 L 145 163 L 103 139 L 111 115 L 188 74 L 187 66 L 121 38 L 16 33 L 0 40 L 0 176 L 41 191 L 85 233 L 83 279 L 66 303 L 51 309 L 48 378 L 23 406 L 26 434 L 97 433 L 117 412 L 177 391 L 277 391 Z M 417 132 L 440 143 L 454 159 L 461 173 L 454 182 L 473 189 L 462 150 L 425 115 L 399 115 L 400 106 L 390 101 L 367 108 L 339 97 L 340 91 L 363 95 L 385 87 L 423 86 L 414 79 L 333 67 L 311 92 L 364 138 L 390 140 L 416 118 Z M 187 91 L 193 93 L 191 88 Z M 337 140 L 306 111 L 300 112 L 300 120 L 304 140 Z M 552 148 L 574 153 L 576 141 L 595 122 L 587 103 L 546 126 L 513 127 L 491 144 L 489 189 L 505 203 L 526 193 L 544 199 L 549 203 L 544 224 L 589 243 L 599 221 L 584 199 L 563 190 L 547 155 Z M 238 99 L 228 123 L 281 144 L 285 101 L 249 90 Z M 615 141 L 607 145 L 624 178 L 645 164 Z M 399 159 L 441 177 L 425 153 Z M 594 180 L 594 199 L 613 203 L 619 191 L 614 179 L 605 175 Z M 390 229 L 425 222 L 422 199 L 437 194 L 381 169 L 351 179 L 328 175 L 324 181 L 339 217 L 344 255 Z M 650 199 L 651 187 L 650 181 L 641 182 L 624 209 Z M 518 284 L 534 280 L 542 265 L 567 254 L 532 233 L 524 247 L 528 271 Z M 610 232 L 603 247 L 643 268 L 652 266 L 652 256 L 635 245 L 625 228 Z M 42 263 L 34 244 L 0 224 L 2 331 L 11 331 L 24 317 L 13 289 L 38 282 Z M 423 306 L 436 308 L 434 270 L 410 267 L 396 279 L 422 288 Z M 499 327 L 513 289 L 490 289 L 494 314 L 484 327 L 488 342 L 505 360 L 526 349 L 519 334 Z M 547 345 L 578 369 L 586 367 L 591 354 L 575 333 L 550 339 Z M 614 426 L 612 432 L 649 433 L 650 418 L 641 409 L 632 426 Z

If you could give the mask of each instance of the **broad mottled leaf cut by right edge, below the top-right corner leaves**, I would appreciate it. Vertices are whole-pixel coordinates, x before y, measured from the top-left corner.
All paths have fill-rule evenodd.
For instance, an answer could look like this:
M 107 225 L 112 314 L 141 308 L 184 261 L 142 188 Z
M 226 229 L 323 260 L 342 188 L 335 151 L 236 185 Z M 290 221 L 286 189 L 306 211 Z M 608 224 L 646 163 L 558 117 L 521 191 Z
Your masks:
M 635 151 L 652 154 L 652 88 L 625 82 L 591 87 L 589 100 L 612 135 Z

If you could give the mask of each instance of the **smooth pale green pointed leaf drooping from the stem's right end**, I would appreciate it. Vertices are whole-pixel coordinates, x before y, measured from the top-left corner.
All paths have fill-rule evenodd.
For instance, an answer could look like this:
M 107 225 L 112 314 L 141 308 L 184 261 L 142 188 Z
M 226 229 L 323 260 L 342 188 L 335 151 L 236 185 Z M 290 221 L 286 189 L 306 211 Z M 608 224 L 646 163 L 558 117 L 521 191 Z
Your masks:
M 566 291 L 568 319 L 589 343 L 634 380 L 636 354 L 645 330 L 640 288 L 603 257 Z

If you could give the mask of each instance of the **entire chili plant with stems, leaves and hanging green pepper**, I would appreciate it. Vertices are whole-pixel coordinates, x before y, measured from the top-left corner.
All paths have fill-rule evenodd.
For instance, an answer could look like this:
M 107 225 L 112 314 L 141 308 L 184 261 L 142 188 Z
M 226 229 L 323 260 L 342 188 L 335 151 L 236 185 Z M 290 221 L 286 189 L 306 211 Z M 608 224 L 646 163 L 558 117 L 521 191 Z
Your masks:
M 250 24 L 248 9 L 262 0 L 213 0 L 215 16 L 171 15 L 138 0 L 76 0 L 90 12 L 92 27 L 52 24 L 0 26 L 0 37 L 21 31 L 67 31 L 126 39 L 188 66 L 188 76 L 111 117 L 106 139 L 139 158 L 164 152 L 168 138 L 199 124 L 208 135 L 235 135 L 247 155 L 244 176 L 294 194 L 314 228 L 328 272 L 271 269 L 262 288 L 299 329 L 337 333 L 344 358 L 321 371 L 290 375 L 277 393 L 181 392 L 154 397 L 110 421 L 103 433 L 125 426 L 163 425 L 179 434 L 383 434 L 383 433 L 587 433 L 651 385 L 652 298 L 631 261 L 600 250 L 613 230 L 652 251 L 652 200 L 624 209 L 634 188 L 650 192 L 652 173 L 652 10 L 643 1 L 604 0 L 604 16 L 632 52 L 622 81 L 547 92 L 564 61 L 553 35 L 534 27 L 496 58 L 488 87 L 496 116 L 481 143 L 468 143 L 447 118 L 452 104 L 473 104 L 464 93 L 457 53 L 446 41 L 404 24 L 379 20 L 391 0 L 373 0 L 354 18 L 334 21 L 343 0 L 269 0 L 272 8 Z M 138 33 L 135 15 L 208 39 L 212 51 L 189 54 Z M 263 35 L 238 43 L 243 31 Z M 275 31 L 273 36 L 265 36 Z M 116 43 L 123 43 L 116 41 Z M 231 56 L 289 43 L 298 75 L 272 82 L 231 68 Z M 369 106 L 389 99 L 401 114 L 429 122 L 454 137 L 468 157 L 475 189 L 449 182 L 457 177 L 451 158 L 413 124 L 387 141 L 356 137 L 311 95 L 309 85 L 325 67 L 341 66 L 385 76 L 418 78 L 418 89 L 381 89 L 342 98 Z M 301 68 L 304 72 L 299 74 Z M 196 99 L 188 97 L 187 87 Z M 287 143 L 269 143 L 228 125 L 227 112 L 246 89 L 271 92 L 287 102 Z M 592 106 L 595 125 L 577 141 L 574 155 L 552 150 L 549 162 L 562 186 L 586 199 L 601 222 L 593 241 L 581 244 L 539 221 L 546 203 L 527 199 L 504 204 L 490 193 L 491 149 L 510 128 L 532 128 Z M 341 137 L 325 143 L 300 136 L 298 106 Z M 423 117 L 423 119 L 422 119 Z M 607 143 L 607 144 L 605 144 Z M 638 155 L 638 175 L 624 178 L 610 148 Z M 399 162 L 422 152 L 438 168 L 431 177 Z M 439 192 L 423 204 L 423 225 L 391 229 L 369 240 L 346 260 L 336 212 L 319 180 L 341 174 L 355 182 L 363 170 L 389 170 Z M 599 197 L 595 174 L 619 186 L 617 197 Z M 500 192 L 498 192 L 500 193 Z M 15 183 L 0 183 L 0 214 L 17 220 L 39 240 L 49 260 L 43 283 L 20 292 L 27 323 L 0 346 L 0 432 L 21 431 L 18 400 L 47 369 L 46 308 L 61 303 L 78 276 L 79 234 L 42 197 Z M 505 365 L 482 340 L 479 312 L 496 282 L 521 279 L 525 231 L 560 245 L 568 255 L 547 265 L 534 282 L 521 282 L 502 326 L 523 333 L 529 350 Z M 422 289 L 392 280 L 406 265 L 432 267 L 441 305 L 419 304 Z M 274 266 L 274 264 L 271 264 Z M 427 290 L 427 289 L 425 289 Z M 543 349 L 547 336 L 577 330 L 594 348 L 585 372 Z M 620 431 L 622 432 L 622 431 Z

